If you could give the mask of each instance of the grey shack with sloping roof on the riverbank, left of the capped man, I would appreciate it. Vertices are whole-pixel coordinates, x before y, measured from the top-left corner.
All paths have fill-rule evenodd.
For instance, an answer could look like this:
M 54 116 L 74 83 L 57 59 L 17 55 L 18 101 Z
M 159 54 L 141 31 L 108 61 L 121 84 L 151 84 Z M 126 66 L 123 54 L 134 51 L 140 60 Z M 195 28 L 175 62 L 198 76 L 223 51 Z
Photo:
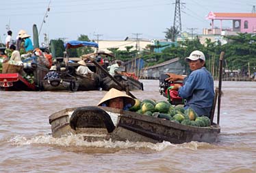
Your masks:
M 166 72 L 173 72 L 179 75 L 183 75 L 185 67 L 181 66 L 179 57 L 170 59 L 166 62 L 156 64 L 155 66 L 149 66 L 142 69 L 141 77 L 143 79 L 158 79 L 160 75 Z

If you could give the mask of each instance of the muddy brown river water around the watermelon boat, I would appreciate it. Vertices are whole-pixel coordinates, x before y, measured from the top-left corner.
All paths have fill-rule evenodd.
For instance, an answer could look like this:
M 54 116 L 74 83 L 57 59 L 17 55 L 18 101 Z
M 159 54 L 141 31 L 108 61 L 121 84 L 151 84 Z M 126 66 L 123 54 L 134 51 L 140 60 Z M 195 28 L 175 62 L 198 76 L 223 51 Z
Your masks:
M 141 81 L 144 91 L 133 95 L 166 100 L 157 80 Z M 223 81 L 222 90 L 214 144 L 55 139 L 53 112 L 97 105 L 106 92 L 0 91 L 0 172 L 256 172 L 256 82 Z

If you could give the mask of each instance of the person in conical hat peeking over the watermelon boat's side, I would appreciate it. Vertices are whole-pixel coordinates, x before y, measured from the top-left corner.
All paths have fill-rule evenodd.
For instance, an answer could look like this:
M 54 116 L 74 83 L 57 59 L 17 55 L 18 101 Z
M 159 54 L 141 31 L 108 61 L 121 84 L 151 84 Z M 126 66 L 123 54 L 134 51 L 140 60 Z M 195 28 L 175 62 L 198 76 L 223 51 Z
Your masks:
M 112 107 L 115 109 L 129 110 L 135 104 L 135 100 L 127 94 L 111 88 L 101 99 L 97 106 Z

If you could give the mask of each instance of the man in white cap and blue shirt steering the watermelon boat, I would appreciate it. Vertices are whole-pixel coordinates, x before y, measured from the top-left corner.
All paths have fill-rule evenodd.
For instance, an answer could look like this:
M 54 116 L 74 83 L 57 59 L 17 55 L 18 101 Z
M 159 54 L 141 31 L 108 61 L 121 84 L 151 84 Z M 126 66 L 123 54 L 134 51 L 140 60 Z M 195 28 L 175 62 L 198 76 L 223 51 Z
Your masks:
M 175 84 L 172 90 L 177 90 L 181 98 L 185 98 L 184 109 L 192 108 L 199 116 L 210 116 L 214 101 L 214 79 L 205 68 L 205 55 L 201 51 L 192 51 L 185 58 L 192 72 L 188 77 L 166 73 L 166 81 L 183 80 L 183 86 Z

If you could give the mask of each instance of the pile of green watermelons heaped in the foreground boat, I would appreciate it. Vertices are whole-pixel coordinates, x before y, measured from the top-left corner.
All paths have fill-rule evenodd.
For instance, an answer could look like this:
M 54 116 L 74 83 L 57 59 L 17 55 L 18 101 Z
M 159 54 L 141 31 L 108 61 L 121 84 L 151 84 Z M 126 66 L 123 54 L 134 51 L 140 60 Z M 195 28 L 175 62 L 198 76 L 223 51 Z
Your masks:
M 211 121 L 207 116 L 199 117 L 193 109 L 183 109 L 183 105 L 171 105 L 167 101 L 153 101 L 152 99 L 144 99 L 140 101 L 135 99 L 136 103 L 129 109 L 138 114 L 145 116 L 153 116 L 164 118 L 187 126 L 209 127 Z

